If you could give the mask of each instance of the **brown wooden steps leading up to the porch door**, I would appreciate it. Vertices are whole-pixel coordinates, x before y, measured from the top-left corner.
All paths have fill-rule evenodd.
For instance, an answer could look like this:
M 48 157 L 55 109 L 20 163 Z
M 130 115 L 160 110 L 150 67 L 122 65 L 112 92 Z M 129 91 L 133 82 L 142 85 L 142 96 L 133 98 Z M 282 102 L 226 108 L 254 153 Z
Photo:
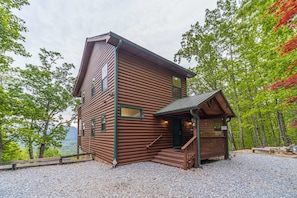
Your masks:
M 169 148 L 162 149 L 155 157 L 152 162 L 165 164 L 168 166 L 174 166 L 183 168 L 184 153 L 181 149 Z

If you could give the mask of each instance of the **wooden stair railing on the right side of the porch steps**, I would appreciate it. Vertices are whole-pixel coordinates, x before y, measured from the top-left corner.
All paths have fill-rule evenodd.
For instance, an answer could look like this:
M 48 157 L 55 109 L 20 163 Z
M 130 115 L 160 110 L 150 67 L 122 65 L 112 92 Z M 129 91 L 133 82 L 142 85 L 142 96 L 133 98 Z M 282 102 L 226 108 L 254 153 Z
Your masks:
M 184 170 L 197 163 L 197 137 L 192 137 L 181 149 L 184 152 Z M 196 165 L 195 165 L 196 166 Z

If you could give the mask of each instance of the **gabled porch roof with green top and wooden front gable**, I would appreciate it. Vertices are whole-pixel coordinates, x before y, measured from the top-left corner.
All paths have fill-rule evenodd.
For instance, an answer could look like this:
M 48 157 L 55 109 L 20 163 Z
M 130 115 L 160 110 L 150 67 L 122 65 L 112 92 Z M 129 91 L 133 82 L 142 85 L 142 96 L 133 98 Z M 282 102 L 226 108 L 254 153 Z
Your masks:
M 219 111 L 213 111 L 213 109 L 210 111 L 210 104 L 205 105 L 206 102 L 212 100 L 213 98 L 217 101 L 217 109 L 219 109 Z M 227 117 L 235 117 L 235 114 L 222 93 L 222 90 L 215 90 L 196 96 L 178 99 L 154 113 L 154 116 L 182 113 L 189 111 L 190 109 L 202 109 L 205 114 L 209 115 L 218 115 L 223 113 L 227 115 Z

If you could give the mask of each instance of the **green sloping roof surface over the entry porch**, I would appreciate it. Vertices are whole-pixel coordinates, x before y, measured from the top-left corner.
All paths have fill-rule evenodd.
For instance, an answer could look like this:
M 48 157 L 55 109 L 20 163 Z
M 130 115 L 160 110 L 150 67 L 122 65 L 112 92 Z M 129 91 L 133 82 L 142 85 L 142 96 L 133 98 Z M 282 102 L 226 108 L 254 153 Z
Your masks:
M 167 105 L 166 107 L 160 109 L 156 113 L 154 113 L 154 116 L 161 116 L 161 115 L 167 115 L 170 113 L 178 113 L 182 111 L 187 111 L 190 109 L 197 109 L 199 105 L 207 101 L 208 99 L 212 98 L 214 95 L 216 95 L 221 90 L 215 90 L 212 92 L 200 94 L 197 96 L 190 96 L 187 98 L 178 99 L 171 104 Z

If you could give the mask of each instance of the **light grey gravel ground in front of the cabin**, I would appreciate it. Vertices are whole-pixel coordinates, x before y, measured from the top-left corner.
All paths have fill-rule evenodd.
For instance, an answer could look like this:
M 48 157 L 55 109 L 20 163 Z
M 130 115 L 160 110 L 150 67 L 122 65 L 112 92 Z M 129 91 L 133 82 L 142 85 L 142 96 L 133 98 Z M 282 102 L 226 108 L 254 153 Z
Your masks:
M 236 154 L 183 169 L 90 161 L 0 171 L 0 197 L 297 197 L 297 159 Z

